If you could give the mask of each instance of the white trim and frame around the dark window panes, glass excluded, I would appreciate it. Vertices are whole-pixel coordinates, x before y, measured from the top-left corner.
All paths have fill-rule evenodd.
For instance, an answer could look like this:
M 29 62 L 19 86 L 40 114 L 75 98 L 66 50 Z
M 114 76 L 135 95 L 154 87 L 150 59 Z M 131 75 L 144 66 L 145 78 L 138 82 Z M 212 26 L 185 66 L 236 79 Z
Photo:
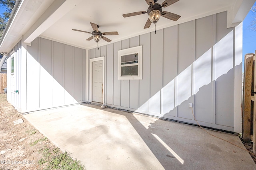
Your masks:
M 138 53 L 138 63 L 125 64 L 125 66 L 138 65 L 138 76 L 121 76 L 121 56 L 135 53 Z M 142 80 L 142 45 L 118 51 L 118 80 Z

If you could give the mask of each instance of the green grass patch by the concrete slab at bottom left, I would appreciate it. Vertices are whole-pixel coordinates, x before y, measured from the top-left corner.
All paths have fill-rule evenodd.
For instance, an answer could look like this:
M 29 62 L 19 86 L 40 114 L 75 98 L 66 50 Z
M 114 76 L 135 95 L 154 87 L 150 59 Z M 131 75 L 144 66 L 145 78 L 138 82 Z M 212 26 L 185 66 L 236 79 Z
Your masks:
M 58 148 L 51 150 L 45 146 L 38 152 L 42 153 L 42 158 L 38 164 L 46 164 L 46 170 L 85 170 L 80 161 L 73 160 L 68 152 L 60 152 Z

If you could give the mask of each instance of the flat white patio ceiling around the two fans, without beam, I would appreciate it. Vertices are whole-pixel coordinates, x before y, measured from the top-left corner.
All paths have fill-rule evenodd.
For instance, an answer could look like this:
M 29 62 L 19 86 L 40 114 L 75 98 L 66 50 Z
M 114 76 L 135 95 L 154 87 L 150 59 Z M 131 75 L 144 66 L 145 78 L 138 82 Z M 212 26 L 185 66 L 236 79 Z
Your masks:
M 178 14 L 181 18 L 178 21 L 168 20 L 160 17 L 156 23 L 156 29 L 162 29 L 182 23 L 193 18 L 207 16 L 226 10 L 234 0 L 180 0 L 166 8 L 163 11 Z M 164 0 L 158 0 L 162 4 Z M 100 26 L 101 32 L 118 31 L 119 35 L 108 35 L 107 38 L 113 42 L 120 41 L 143 33 L 154 31 L 154 24 L 150 28 L 144 29 L 148 19 L 148 14 L 124 18 L 122 14 L 131 12 L 147 11 L 148 4 L 145 0 L 86 0 L 82 1 L 70 12 L 64 15 L 54 25 L 42 33 L 44 37 L 69 42 L 70 44 L 84 47 L 87 49 L 96 47 L 94 40 L 86 41 L 91 35 L 72 31 L 80 29 L 92 32 L 90 22 Z M 111 42 L 110 42 L 111 43 Z M 108 44 L 101 40 L 99 45 Z

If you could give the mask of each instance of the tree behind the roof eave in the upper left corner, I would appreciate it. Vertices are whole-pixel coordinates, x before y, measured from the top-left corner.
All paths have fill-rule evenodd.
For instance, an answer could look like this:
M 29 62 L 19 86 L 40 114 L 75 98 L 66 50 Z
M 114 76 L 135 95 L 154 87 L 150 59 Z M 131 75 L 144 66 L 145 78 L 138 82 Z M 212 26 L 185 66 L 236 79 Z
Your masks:
M 6 28 L 7 22 L 11 16 L 12 9 L 15 5 L 15 2 L 16 0 L 0 0 L 0 6 L 6 8 L 6 12 L 0 15 L 0 39 L 2 39 L 4 29 Z M 4 64 L 5 59 L 6 59 L 6 55 L 3 56 L 0 62 L 0 72 L 2 70 L 2 66 Z

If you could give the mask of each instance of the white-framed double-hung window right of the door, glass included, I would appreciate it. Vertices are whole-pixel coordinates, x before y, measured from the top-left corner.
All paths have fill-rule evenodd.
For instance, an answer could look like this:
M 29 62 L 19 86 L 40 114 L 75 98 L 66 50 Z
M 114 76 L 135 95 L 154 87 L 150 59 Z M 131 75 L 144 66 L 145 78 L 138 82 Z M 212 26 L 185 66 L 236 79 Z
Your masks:
M 118 80 L 142 79 L 142 46 L 118 51 Z

